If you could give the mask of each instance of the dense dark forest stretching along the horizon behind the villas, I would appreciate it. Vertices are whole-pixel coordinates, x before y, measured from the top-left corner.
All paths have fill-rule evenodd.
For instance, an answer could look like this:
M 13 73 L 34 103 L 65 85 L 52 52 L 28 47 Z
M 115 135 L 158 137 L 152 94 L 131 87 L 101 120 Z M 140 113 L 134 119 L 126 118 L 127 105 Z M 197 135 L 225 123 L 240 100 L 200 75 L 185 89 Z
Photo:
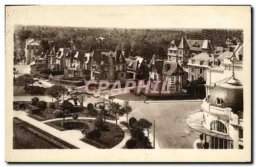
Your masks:
M 243 41 L 242 30 L 166 30 L 166 29 L 108 29 L 108 28 L 72 28 L 34 26 L 15 29 L 19 41 L 27 38 L 42 41 L 42 52 L 51 50 L 56 44 L 61 47 L 90 50 L 115 49 L 124 50 L 127 55 L 151 58 L 155 53 L 159 58 L 166 56 L 170 41 L 181 39 L 208 39 L 215 46 L 226 46 L 225 41 L 230 37 L 238 37 Z M 103 41 L 96 39 L 105 38 Z M 49 44 L 48 41 L 51 41 Z

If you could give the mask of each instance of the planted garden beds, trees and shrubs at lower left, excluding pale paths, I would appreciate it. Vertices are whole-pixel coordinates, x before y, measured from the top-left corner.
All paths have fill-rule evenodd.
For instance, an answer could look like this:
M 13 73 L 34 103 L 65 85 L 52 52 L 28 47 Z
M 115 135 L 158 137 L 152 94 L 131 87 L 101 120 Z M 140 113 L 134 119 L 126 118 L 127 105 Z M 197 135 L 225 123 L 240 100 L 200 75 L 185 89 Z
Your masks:
M 129 101 L 124 101 L 121 105 L 114 102 L 115 97 L 108 96 L 106 98 L 108 93 L 101 93 L 100 97 L 97 98 L 97 103 L 83 106 L 86 99 L 94 96 L 93 94 L 78 91 L 75 88 L 68 90 L 66 86 L 62 85 L 53 85 L 47 88 L 33 86 L 35 82 L 38 81 L 35 80 L 34 76 L 27 74 L 14 79 L 16 88 L 23 89 L 24 94 L 22 95 L 24 97 L 27 94 L 34 95 L 31 101 L 14 101 L 14 110 L 26 112 L 27 116 L 39 122 L 45 121 L 42 124 L 59 131 L 79 130 L 83 134 L 79 140 L 99 149 L 111 149 L 117 146 L 124 139 L 125 133 L 131 134 L 132 137 L 127 141 L 125 140 L 123 149 L 152 149 L 148 135 L 144 135 L 144 131 L 151 128 L 152 123 L 143 118 L 137 121 L 136 118 L 132 117 L 128 120 L 128 114 L 132 112 Z M 38 94 L 43 97 L 36 97 Z M 46 95 L 48 97 L 45 97 Z M 47 98 L 47 101 L 42 100 Z M 126 117 L 126 121 L 120 122 L 123 128 L 118 123 L 119 117 L 122 116 Z M 16 136 L 20 137 L 30 132 L 31 134 L 28 136 L 31 136 L 35 142 L 40 142 L 40 139 L 46 141 L 45 145 L 39 146 L 39 148 L 74 148 L 67 146 L 66 142 L 63 142 L 62 146 L 62 141 L 58 140 L 57 137 L 18 120 L 18 118 L 14 118 L 14 120 L 22 123 L 22 125 L 15 123 L 14 134 Z M 44 141 L 41 143 L 43 144 Z M 31 142 L 28 138 L 26 145 L 31 144 Z M 22 147 L 19 145 L 22 144 L 15 140 L 14 148 Z M 34 147 L 28 146 L 28 148 Z

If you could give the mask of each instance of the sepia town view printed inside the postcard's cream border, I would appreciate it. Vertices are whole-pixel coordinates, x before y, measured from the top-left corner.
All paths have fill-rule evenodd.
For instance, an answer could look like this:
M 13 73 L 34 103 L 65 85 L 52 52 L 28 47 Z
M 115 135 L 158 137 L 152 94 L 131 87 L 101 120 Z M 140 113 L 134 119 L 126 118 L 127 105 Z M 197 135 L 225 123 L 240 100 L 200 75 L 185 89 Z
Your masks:
M 243 38 L 15 25 L 13 149 L 243 149 Z

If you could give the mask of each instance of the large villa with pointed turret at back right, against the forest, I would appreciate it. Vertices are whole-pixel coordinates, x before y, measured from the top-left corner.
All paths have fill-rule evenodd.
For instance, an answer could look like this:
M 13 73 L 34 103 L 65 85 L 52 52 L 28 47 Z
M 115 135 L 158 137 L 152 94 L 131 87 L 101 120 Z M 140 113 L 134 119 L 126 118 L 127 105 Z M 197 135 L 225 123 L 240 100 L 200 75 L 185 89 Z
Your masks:
M 173 40 L 167 49 L 167 60 L 186 65 L 188 59 L 200 54 L 215 54 L 216 49 L 210 40 L 194 40 L 182 37 L 181 40 Z

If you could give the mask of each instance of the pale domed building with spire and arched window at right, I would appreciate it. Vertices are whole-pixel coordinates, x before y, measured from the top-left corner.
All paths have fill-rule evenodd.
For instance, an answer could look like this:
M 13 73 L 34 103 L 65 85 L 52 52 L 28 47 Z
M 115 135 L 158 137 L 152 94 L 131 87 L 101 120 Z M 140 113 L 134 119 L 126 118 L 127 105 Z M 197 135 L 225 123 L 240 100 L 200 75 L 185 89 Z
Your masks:
M 243 149 L 243 85 L 234 72 L 211 90 L 200 112 L 186 117 L 186 124 L 203 134 L 201 149 Z

